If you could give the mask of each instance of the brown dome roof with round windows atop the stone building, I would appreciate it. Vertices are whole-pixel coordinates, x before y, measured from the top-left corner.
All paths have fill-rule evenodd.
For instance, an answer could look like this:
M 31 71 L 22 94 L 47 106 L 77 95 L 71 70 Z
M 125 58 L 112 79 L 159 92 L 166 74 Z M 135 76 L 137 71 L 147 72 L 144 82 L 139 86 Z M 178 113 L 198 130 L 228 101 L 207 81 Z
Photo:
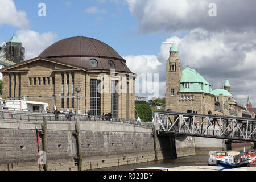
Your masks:
M 112 47 L 100 40 L 84 36 L 67 38 L 53 43 L 39 57 L 47 57 L 87 69 L 106 70 L 111 69 L 108 60 L 112 60 L 117 71 L 131 72 L 125 64 L 126 61 Z M 96 59 L 98 67 L 93 68 L 89 63 L 90 59 Z

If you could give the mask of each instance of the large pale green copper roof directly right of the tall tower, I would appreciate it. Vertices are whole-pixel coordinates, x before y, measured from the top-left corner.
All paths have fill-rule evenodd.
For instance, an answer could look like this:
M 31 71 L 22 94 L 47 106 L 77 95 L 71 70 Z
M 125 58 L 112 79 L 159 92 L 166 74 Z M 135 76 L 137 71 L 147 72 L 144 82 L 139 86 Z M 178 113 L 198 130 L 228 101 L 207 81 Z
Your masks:
M 185 89 L 184 84 L 189 84 Z M 195 69 L 185 68 L 180 80 L 180 92 L 203 92 L 213 94 L 212 86 Z M 214 95 L 214 94 L 213 94 Z

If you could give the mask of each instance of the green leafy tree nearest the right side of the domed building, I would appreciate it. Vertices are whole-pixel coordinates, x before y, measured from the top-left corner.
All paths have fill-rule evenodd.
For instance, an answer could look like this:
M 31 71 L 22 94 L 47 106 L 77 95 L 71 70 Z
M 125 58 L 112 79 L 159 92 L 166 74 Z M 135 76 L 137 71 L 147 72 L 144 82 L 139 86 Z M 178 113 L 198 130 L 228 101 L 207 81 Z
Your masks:
M 152 121 L 152 109 L 148 104 L 137 104 L 135 106 L 135 119 L 141 118 L 141 121 L 148 121 L 151 122 Z M 138 115 L 137 115 L 138 112 Z

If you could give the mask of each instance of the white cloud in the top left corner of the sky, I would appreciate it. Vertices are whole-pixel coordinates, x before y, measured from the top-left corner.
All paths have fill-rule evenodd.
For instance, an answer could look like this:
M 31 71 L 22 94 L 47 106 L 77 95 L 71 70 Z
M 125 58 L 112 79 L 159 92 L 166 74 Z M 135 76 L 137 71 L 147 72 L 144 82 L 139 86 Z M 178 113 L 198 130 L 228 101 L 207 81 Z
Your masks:
M 29 21 L 25 11 L 17 10 L 13 0 L 0 0 L 0 25 L 9 24 L 18 28 L 27 28 Z

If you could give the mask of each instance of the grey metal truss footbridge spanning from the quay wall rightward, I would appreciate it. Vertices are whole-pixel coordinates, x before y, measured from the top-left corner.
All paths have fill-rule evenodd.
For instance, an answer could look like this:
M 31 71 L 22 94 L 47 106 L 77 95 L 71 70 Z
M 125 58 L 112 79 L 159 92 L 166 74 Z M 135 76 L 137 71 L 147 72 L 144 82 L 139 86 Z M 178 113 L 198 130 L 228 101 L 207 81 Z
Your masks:
M 188 135 L 256 142 L 256 119 L 156 111 L 159 135 Z

